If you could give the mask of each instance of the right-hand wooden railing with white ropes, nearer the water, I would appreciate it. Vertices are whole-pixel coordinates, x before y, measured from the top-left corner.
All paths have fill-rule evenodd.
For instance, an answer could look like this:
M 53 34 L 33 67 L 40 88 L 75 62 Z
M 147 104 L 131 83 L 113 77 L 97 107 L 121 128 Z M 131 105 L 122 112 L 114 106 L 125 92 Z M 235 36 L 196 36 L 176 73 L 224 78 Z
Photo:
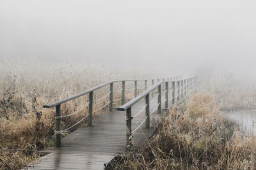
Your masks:
M 171 87 L 171 93 L 172 93 L 172 97 L 169 98 L 169 83 L 172 84 Z M 162 85 L 165 85 L 165 90 L 164 92 L 161 90 L 162 89 Z M 177 85 L 177 87 L 176 87 Z M 152 87 L 150 87 L 150 89 L 145 90 L 145 92 L 143 92 L 142 94 L 140 94 L 139 96 L 135 97 L 134 99 L 132 99 L 131 101 L 129 101 L 128 103 L 120 106 L 117 110 L 122 110 L 122 111 L 126 111 L 126 145 L 127 145 L 127 150 L 131 150 L 132 148 L 132 136 L 134 134 L 134 132 L 136 132 L 141 125 L 145 122 L 145 127 L 148 129 L 150 128 L 150 115 L 152 115 L 152 113 L 154 113 L 154 111 L 158 111 L 158 113 L 161 113 L 162 111 L 162 103 L 165 103 L 164 108 L 168 108 L 168 99 L 172 99 L 172 104 L 175 104 L 175 99 L 177 99 L 177 101 L 182 101 L 182 99 L 184 99 L 185 96 L 187 96 L 188 94 L 188 90 L 191 89 L 191 87 L 194 87 L 195 85 L 195 76 L 193 76 L 192 78 L 186 78 L 186 79 L 182 79 L 182 80 L 174 80 L 174 81 L 159 81 L 157 82 L 155 85 L 153 85 Z M 157 89 L 157 106 L 156 108 L 154 108 L 153 111 L 151 111 L 150 113 L 150 103 L 152 103 L 152 101 L 154 101 L 156 98 L 152 99 L 152 101 L 150 101 L 150 93 L 154 92 L 155 89 Z M 165 94 L 165 100 L 162 102 L 162 94 Z M 177 95 L 176 95 L 177 94 Z M 134 115 L 132 117 L 132 106 L 136 103 L 138 103 L 141 99 L 145 98 L 145 107 L 142 108 L 136 115 Z M 135 118 L 137 115 L 139 115 L 143 110 L 145 110 L 145 119 L 141 122 L 140 125 L 138 125 L 138 127 L 136 127 L 136 129 L 134 129 L 134 131 L 132 131 L 132 119 Z

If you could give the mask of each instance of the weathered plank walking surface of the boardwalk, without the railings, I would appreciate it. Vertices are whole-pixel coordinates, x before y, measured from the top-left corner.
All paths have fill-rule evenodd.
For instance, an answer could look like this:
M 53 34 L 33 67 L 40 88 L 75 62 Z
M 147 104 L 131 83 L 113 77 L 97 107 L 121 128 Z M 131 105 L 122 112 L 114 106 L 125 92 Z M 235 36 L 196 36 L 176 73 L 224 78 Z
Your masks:
M 145 100 L 132 106 L 132 115 L 145 106 Z M 157 106 L 157 101 L 150 103 L 150 112 Z M 153 113 L 150 117 L 150 129 L 145 123 L 134 134 L 134 148 L 145 143 L 148 136 L 156 129 L 156 117 L 165 113 Z M 132 130 L 145 119 L 145 111 L 132 119 Z M 142 131 L 141 131 L 142 130 Z M 125 111 L 105 111 L 93 118 L 93 127 L 79 127 L 63 138 L 61 148 L 31 162 L 24 169 L 104 169 L 117 153 L 125 153 L 126 148 Z

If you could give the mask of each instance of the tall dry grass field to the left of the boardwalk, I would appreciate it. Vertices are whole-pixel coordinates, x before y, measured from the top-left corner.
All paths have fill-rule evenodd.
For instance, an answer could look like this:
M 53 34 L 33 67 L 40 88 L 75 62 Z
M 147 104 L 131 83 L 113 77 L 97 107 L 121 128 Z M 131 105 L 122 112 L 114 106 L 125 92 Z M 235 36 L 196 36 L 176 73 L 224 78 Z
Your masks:
M 19 169 L 38 157 L 38 150 L 54 146 L 54 108 L 43 109 L 47 103 L 63 99 L 77 92 L 90 89 L 110 80 L 134 78 L 131 71 L 107 67 L 84 67 L 47 63 L 1 63 L 0 62 L 0 169 Z M 124 76 L 125 75 L 125 76 Z M 137 78 L 147 74 L 136 74 Z M 143 86 L 144 82 L 141 82 Z M 140 84 L 138 84 L 140 85 Z M 132 89 L 132 84 L 127 84 Z M 121 89 L 121 83 L 115 90 Z M 109 87 L 97 90 L 93 95 L 100 99 Z M 120 94 L 114 94 L 115 99 Z M 132 94 L 127 94 L 127 97 Z M 61 114 L 80 110 L 88 102 L 88 96 L 61 104 Z M 108 98 L 95 103 L 95 110 L 108 103 Z M 116 103 L 118 104 L 118 103 Z M 95 113 L 93 116 L 101 113 Z M 61 121 L 66 129 L 87 115 L 88 110 Z M 84 124 L 87 120 L 81 122 Z M 80 124 L 80 125 L 81 125 Z

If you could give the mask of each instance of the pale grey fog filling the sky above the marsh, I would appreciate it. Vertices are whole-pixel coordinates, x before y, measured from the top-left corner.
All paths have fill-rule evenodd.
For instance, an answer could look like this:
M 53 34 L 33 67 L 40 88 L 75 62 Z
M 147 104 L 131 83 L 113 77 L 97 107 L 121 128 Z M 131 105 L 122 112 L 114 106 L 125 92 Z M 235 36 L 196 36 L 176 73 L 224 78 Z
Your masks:
M 0 61 L 256 71 L 256 1 L 0 0 Z

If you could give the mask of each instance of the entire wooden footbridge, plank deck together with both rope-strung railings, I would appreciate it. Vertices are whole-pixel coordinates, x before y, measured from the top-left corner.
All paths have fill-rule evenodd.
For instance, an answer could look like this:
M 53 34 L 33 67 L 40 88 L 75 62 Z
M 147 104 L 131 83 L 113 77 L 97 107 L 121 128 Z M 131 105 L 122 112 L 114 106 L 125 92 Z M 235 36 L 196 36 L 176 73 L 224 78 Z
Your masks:
M 134 81 L 133 89 L 125 89 L 127 81 Z M 138 87 L 138 81 L 144 81 L 144 87 Z M 150 87 L 148 81 L 151 81 Z M 114 83 L 122 83 L 122 89 L 115 91 Z M 93 100 L 93 92 L 108 85 L 108 94 L 101 99 Z M 154 80 L 110 81 L 67 99 L 47 104 L 44 108 L 56 108 L 56 149 L 47 148 L 43 152 L 49 154 L 36 159 L 24 169 L 104 169 L 104 163 L 109 162 L 118 153 L 140 148 L 154 132 L 157 117 L 165 116 L 164 113 L 170 105 L 184 99 L 193 85 L 195 85 L 195 77 L 181 79 L 180 76 L 172 77 L 170 80 L 166 78 L 163 81 L 157 79 L 156 83 Z M 134 92 L 133 99 L 127 101 L 125 92 Z M 120 93 L 120 99 L 115 99 L 114 93 Z M 70 115 L 61 115 L 61 104 L 86 94 L 89 94 L 88 103 L 84 108 Z M 108 102 L 102 108 L 93 110 L 93 103 L 103 100 Z M 113 106 L 118 101 L 122 106 L 115 109 Z M 108 111 L 104 111 L 107 107 Z M 88 125 L 77 128 L 61 139 L 63 132 L 77 125 L 61 130 L 61 118 L 79 114 L 86 108 L 88 115 L 77 124 L 88 118 Z M 96 111 L 104 113 L 93 117 Z

